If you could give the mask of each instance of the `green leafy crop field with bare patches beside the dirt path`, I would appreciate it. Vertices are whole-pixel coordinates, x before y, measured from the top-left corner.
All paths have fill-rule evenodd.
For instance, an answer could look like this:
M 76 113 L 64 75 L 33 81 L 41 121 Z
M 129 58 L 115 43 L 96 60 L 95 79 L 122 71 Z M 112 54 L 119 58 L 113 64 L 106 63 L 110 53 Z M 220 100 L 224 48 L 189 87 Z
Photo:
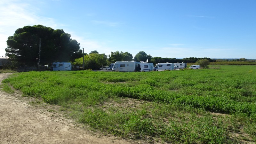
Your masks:
M 255 143 L 256 67 L 218 68 L 24 72 L 3 85 L 61 105 L 77 122 L 128 139 Z

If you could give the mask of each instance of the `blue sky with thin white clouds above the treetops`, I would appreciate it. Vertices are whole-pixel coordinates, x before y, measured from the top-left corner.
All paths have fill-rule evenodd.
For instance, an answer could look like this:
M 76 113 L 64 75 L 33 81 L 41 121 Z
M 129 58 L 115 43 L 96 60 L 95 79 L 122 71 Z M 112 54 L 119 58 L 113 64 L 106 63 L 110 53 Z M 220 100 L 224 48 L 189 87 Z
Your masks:
M 1 0 L 0 56 L 16 29 L 37 24 L 86 53 L 256 59 L 255 0 Z

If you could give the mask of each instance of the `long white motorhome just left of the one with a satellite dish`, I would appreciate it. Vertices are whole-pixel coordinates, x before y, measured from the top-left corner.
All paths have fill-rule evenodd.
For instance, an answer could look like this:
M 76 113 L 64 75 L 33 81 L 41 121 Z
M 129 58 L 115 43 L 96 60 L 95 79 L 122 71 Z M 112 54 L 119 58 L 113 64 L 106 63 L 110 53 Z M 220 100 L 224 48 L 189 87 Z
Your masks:
M 112 71 L 140 71 L 140 62 L 137 61 L 116 61 Z

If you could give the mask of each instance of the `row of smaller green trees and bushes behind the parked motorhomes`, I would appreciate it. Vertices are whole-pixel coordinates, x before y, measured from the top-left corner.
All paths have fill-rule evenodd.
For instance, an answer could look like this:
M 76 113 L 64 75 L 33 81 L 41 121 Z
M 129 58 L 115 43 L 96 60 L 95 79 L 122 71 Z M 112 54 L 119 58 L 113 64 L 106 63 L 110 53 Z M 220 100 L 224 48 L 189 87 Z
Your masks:
M 73 65 L 77 66 L 83 66 L 83 60 L 84 60 L 84 67 L 85 69 L 99 69 L 102 66 L 108 66 L 110 63 L 115 63 L 116 61 L 147 61 L 152 62 L 154 65 L 157 63 L 177 63 L 177 62 L 184 62 L 187 63 L 187 61 L 190 62 L 198 62 L 198 64 L 203 67 L 207 68 L 207 65 L 209 64 L 211 60 L 210 58 L 185 58 L 185 59 L 175 59 L 175 58 L 161 58 L 161 57 L 154 57 L 152 58 L 150 55 L 147 55 L 146 52 L 138 52 L 134 59 L 132 59 L 132 54 L 129 52 L 111 52 L 110 55 L 106 55 L 105 53 L 99 54 L 98 51 L 92 51 L 89 54 L 85 53 L 84 59 L 83 57 L 76 59 Z M 206 65 L 204 65 L 206 63 Z

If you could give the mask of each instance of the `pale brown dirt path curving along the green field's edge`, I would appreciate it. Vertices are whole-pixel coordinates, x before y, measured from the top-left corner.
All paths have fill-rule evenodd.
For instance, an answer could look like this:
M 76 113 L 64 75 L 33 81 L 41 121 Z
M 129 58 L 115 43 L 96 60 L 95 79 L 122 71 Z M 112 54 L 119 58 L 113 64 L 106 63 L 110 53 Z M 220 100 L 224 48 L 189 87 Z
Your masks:
M 0 82 L 10 74 L 0 74 Z M 0 91 L 0 143 L 134 143 L 91 132 L 72 120 L 29 104 L 19 93 Z

